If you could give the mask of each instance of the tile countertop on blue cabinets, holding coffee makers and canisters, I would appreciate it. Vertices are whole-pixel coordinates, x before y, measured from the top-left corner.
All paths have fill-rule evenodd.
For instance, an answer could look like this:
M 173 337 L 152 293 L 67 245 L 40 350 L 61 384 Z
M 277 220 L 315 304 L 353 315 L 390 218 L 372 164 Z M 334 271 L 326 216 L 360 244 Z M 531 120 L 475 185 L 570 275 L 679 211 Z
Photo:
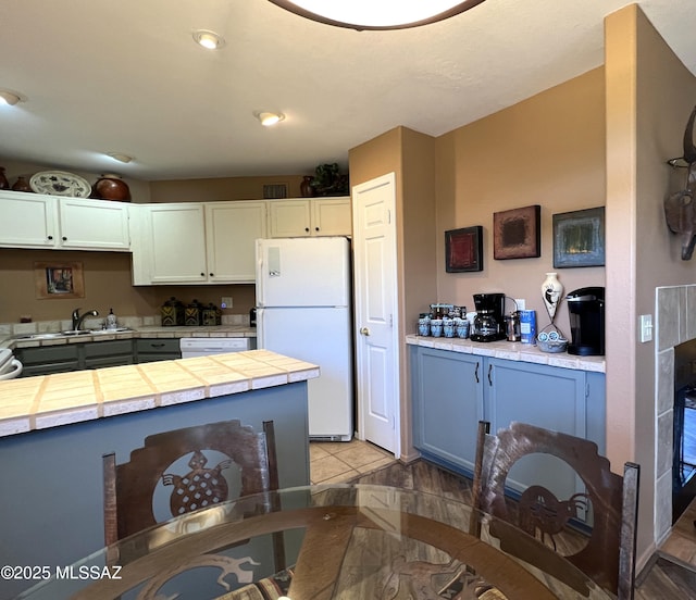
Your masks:
M 594 371 L 605 373 L 606 363 L 604 357 L 576 357 L 568 352 L 543 352 L 531 343 L 520 343 L 517 341 L 486 341 L 477 342 L 470 339 L 423 337 L 407 335 L 406 342 L 411 346 L 423 346 L 425 348 L 437 348 L 439 350 L 450 350 L 464 354 L 477 354 L 480 357 L 493 357 L 508 361 L 522 361 L 535 364 L 547 364 L 549 366 L 560 366 L 562 368 L 574 368 L 576 371 Z

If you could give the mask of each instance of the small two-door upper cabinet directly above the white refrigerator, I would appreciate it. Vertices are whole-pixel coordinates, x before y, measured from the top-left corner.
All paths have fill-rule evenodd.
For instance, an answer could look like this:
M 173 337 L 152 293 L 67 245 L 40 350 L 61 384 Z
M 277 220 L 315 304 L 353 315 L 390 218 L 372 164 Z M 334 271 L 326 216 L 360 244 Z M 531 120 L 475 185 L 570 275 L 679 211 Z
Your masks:
M 350 236 L 350 198 L 297 198 L 269 201 L 269 236 Z

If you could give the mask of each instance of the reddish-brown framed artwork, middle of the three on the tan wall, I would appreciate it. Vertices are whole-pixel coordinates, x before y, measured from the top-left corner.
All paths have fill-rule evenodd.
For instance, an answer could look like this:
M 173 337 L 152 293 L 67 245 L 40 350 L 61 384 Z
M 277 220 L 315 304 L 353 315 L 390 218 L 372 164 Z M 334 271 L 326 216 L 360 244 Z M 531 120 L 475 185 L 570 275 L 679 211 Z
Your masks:
M 542 255 L 542 207 L 534 204 L 493 213 L 493 258 L 535 259 Z

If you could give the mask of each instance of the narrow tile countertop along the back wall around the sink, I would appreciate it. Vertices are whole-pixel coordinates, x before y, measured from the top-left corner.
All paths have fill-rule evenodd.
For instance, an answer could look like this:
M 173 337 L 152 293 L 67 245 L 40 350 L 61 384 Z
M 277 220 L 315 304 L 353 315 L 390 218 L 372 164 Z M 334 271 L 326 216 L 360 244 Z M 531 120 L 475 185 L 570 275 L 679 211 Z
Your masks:
M 50 333 L 50 332 L 49 332 Z M 37 348 L 39 346 L 61 346 L 65 343 L 84 343 L 85 341 L 108 341 L 130 338 L 184 338 L 184 337 L 257 337 L 256 327 L 244 325 L 215 325 L 208 327 L 134 327 L 127 332 L 97 332 L 82 336 L 61 336 L 55 338 L 23 339 L 12 336 L 0 336 L 0 348 Z

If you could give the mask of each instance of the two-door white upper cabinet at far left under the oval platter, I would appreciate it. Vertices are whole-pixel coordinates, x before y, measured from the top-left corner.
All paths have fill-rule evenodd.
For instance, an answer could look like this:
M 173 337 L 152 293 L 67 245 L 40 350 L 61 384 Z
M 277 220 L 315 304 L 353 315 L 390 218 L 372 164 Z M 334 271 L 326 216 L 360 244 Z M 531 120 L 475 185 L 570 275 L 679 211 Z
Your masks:
M 107 200 L 3 190 L 0 246 L 127 252 L 128 207 Z

